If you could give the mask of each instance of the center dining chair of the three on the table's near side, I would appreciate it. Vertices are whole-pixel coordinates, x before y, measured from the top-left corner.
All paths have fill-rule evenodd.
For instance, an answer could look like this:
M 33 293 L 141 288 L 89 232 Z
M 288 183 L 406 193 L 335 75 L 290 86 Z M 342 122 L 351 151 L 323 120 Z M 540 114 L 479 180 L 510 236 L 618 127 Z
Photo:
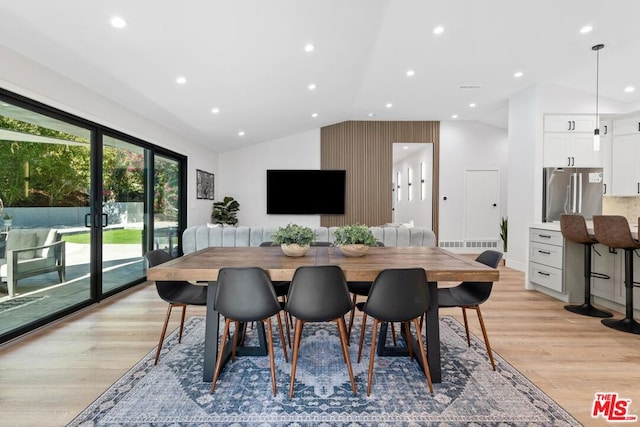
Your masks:
M 291 384 L 289 398 L 293 397 L 296 378 L 296 366 L 302 328 L 307 322 L 335 322 L 342 355 L 347 364 L 351 389 L 357 393 L 356 383 L 351 368 L 351 359 L 347 348 L 347 326 L 344 315 L 352 308 L 349 289 L 342 269 L 336 265 L 298 267 L 291 280 L 291 287 L 287 295 L 286 310 L 296 319 L 293 334 L 293 360 L 291 363 Z

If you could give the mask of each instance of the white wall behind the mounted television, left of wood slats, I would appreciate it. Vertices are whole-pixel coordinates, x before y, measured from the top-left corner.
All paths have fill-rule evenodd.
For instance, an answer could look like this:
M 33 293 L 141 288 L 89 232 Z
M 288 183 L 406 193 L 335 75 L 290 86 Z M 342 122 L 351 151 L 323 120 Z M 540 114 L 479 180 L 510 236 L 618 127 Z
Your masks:
M 233 196 L 240 203 L 238 224 L 281 226 L 294 222 L 320 226 L 320 215 L 267 215 L 267 169 L 320 169 L 320 129 L 264 142 L 219 155 L 216 199 Z M 291 197 L 295 199 L 295 193 Z

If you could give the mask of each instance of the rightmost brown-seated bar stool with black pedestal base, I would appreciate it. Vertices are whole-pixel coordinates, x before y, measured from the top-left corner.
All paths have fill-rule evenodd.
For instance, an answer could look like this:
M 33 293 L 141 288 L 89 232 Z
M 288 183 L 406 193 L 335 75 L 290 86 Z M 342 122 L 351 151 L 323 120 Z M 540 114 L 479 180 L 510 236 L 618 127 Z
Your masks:
M 639 218 L 640 222 L 640 218 Z M 632 334 L 640 334 L 640 323 L 633 318 L 633 251 L 640 249 L 640 242 L 631 236 L 629 222 L 619 215 L 595 215 L 593 228 L 596 239 L 610 248 L 624 249 L 624 285 L 626 288 L 626 313 L 624 319 L 602 319 L 609 328 Z

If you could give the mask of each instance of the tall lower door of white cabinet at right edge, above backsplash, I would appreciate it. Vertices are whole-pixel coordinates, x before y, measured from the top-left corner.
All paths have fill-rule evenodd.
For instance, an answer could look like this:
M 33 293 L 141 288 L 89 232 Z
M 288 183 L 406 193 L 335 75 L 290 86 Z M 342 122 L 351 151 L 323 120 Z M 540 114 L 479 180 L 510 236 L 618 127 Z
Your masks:
M 614 122 L 615 129 L 615 122 Z M 640 195 L 640 133 L 614 135 L 611 142 L 610 196 Z

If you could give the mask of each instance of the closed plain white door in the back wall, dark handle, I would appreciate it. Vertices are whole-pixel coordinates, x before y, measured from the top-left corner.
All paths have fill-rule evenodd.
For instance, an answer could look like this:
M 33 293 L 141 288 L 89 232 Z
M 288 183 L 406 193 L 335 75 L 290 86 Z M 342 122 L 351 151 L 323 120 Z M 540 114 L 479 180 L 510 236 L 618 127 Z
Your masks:
M 500 238 L 500 173 L 498 170 L 465 171 L 465 240 Z

